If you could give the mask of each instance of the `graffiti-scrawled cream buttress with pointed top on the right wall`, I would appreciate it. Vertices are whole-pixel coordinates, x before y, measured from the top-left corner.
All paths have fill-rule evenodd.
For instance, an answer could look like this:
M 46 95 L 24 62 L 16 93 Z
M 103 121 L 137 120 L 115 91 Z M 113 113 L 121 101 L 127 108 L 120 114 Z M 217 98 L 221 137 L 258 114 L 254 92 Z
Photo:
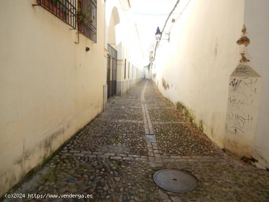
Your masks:
M 246 134 L 255 129 L 259 103 L 260 76 L 251 67 L 239 65 L 230 76 L 226 130 L 233 134 Z

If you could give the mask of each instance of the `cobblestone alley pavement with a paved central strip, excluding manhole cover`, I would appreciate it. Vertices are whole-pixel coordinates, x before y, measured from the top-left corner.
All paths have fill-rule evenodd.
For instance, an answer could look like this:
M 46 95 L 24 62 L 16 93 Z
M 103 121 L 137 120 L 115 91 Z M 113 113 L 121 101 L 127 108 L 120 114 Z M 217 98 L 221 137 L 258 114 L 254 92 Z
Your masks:
M 198 186 L 184 194 L 158 188 L 153 175 L 165 168 L 191 173 Z M 72 200 L 95 202 L 269 202 L 269 172 L 228 157 L 153 82 L 142 81 L 110 99 L 105 112 L 11 192 L 92 194 Z M 31 200 L 72 201 L 24 199 Z

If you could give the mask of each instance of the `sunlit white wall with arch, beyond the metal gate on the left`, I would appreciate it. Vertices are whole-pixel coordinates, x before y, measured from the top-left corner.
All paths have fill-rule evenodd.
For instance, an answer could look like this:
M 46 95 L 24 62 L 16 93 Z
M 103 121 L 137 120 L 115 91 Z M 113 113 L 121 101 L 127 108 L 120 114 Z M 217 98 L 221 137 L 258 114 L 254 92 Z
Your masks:
M 116 19 L 116 20 L 115 20 Z M 115 23 L 116 22 L 116 23 Z M 135 18 L 126 0 L 109 0 L 106 2 L 106 42 L 114 35 L 117 60 L 117 95 L 126 93 L 141 76 L 132 77 L 132 66 L 142 71 L 144 55 L 136 29 Z M 113 27 L 114 26 L 114 30 Z M 113 34 L 113 32 L 115 32 Z M 126 73 L 124 63 L 126 59 Z M 130 73 L 129 73 L 130 62 Z M 124 75 L 126 77 L 124 78 Z M 129 78 L 128 78 L 129 74 Z

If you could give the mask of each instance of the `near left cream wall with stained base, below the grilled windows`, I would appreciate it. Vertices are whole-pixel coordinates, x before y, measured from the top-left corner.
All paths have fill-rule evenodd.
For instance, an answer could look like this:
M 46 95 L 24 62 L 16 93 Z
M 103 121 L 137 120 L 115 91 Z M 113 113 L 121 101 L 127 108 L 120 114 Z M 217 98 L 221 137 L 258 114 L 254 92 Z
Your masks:
M 35 3 L 0 1 L 0 195 L 103 110 L 104 3 L 97 44 Z

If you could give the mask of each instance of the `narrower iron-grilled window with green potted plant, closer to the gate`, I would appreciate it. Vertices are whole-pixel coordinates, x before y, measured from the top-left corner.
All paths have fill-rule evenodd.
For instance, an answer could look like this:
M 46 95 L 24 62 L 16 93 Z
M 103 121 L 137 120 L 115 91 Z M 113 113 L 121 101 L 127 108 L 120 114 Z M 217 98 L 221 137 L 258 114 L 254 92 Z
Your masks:
M 78 0 L 78 31 L 96 43 L 97 0 Z

